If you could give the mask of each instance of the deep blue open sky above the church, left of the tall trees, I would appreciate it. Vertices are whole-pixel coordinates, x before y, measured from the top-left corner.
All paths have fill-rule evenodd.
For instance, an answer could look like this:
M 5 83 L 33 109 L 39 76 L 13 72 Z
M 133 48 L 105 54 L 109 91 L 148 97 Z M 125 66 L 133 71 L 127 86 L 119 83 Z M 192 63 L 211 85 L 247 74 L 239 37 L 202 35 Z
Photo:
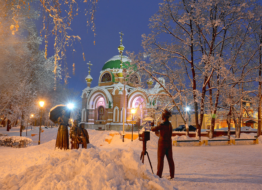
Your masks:
M 105 62 L 111 57 L 118 55 L 117 47 L 120 44 L 120 34 L 123 32 L 123 45 L 125 51 L 138 52 L 142 50 L 141 35 L 148 34 L 149 18 L 159 9 L 161 0 L 151 1 L 120 1 L 120 0 L 100 0 L 95 13 L 96 36 L 89 28 L 87 33 L 86 16 L 84 13 L 85 4 L 79 3 L 80 12 L 74 17 L 70 27 L 72 35 L 81 38 L 81 44 L 74 44 L 74 48 L 69 48 L 66 53 L 66 61 L 69 68 L 68 85 L 75 91 L 82 91 L 87 85 L 85 77 L 88 75 L 88 63 L 91 61 L 91 73 L 93 78 L 91 87 L 97 86 L 100 71 Z M 41 20 L 40 20 L 41 23 Z M 50 38 L 48 44 L 48 55 L 53 53 L 53 39 Z M 94 45 L 95 40 L 95 45 Z M 83 46 L 83 49 L 82 49 Z M 44 45 L 41 46 L 44 48 Z M 73 54 L 72 49 L 76 52 Z M 83 52 L 85 61 L 83 60 Z M 75 63 L 75 76 L 72 74 L 72 65 Z

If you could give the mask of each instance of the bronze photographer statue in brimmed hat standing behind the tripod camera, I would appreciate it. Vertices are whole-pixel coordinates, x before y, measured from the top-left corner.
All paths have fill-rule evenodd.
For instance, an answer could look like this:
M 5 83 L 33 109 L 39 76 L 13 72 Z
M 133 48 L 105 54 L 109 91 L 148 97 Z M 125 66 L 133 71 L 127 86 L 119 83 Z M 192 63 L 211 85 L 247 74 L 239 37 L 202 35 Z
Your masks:
M 172 117 L 171 111 L 168 109 L 162 110 L 162 120 L 163 122 L 154 127 L 154 120 L 151 123 L 151 131 L 156 132 L 159 130 L 159 140 L 157 147 L 157 173 L 160 178 L 162 177 L 163 167 L 164 167 L 164 157 L 166 155 L 167 162 L 169 165 L 169 172 L 171 179 L 174 178 L 175 165 L 172 153 L 172 125 L 169 122 L 169 118 Z M 170 178 L 169 177 L 169 178 Z

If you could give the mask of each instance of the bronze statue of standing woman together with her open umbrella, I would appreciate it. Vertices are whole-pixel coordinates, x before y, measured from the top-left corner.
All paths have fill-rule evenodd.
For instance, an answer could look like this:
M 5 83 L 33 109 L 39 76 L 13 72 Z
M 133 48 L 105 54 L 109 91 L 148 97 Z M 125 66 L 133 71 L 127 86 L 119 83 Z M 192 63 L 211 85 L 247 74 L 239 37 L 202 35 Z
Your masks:
M 56 148 L 69 149 L 68 120 L 70 118 L 70 110 L 66 105 L 56 105 L 50 110 L 49 119 L 59 125 L 56 137 Z

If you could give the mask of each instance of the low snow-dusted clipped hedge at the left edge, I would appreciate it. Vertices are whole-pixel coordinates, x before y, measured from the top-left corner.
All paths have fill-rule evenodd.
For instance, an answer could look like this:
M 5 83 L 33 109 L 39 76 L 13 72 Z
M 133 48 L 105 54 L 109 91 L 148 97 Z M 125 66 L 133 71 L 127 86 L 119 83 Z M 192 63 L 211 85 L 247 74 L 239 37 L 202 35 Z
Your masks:
M 23 136 L 1 136 L 0 135 L 0 146 L 8 146 L 14 148 L 24 148 L 28 144 L 32 143 L 32 139 Z

